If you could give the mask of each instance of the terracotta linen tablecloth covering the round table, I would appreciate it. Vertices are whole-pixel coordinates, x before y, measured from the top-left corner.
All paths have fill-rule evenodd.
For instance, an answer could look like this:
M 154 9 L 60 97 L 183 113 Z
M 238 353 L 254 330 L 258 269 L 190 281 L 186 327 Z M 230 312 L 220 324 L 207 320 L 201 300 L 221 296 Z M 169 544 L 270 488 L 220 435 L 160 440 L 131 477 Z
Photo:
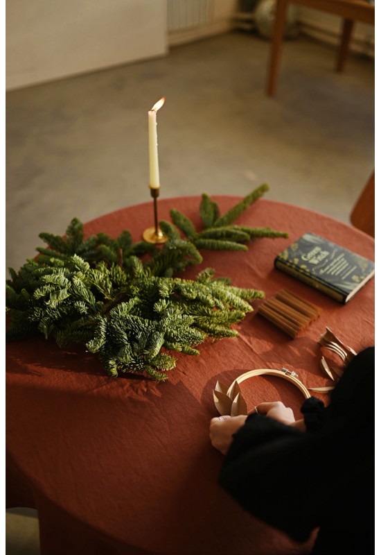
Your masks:
M 200 227 L 200 200 L 159 200 L 159 219 L 170 221 L 175 207 Z M 226 212 L 240 198 L 213 200 Z M 137 240 L 152 219 L 152 204 L 145 203 L 91 221 L 85 232 L 116 237 L 128 229 Z M 258 239 L 247 253 L 205 250 L 204 262 L 182 277 L 212 267 L 216 276 L 262 289 L 267 297 L 283 288 L 294 291 L 322 309 L 296 339 L 257 315 L 257 300 L 237 326 L 237 338 L 206 341 L 199 356 L 178 354 L 164 383 L 108 377 L 82 345 L 60 350 L 42 337 L 8 343 L 7 502 L 37 509 L 43 555 L 309 552 L 313 538 L 297 545 L 245 513 L 218 486 L 223 456 L 209 441 L 209 422 L 218 416 L 212 391 L 218 379 L 230 384 L 245 370 L 282 366 L 295 370 L 307 387 L 330 385 L 319 368 L 319 336 L 329 326 L 357 351 L 374 344 L 374 280 L 340 305 L 276 270 L 274 257 L 307 231 L 371 259 L 374 241 L 322 214 L 264 199 L 237 223 L 269 225 L 289 238 Z M 303 395 L 284 379 L 256 377 L 242 389 L 249 410 L 281 399 L 300 417 Z M 280 472 L 287 479 L 287 469 Z

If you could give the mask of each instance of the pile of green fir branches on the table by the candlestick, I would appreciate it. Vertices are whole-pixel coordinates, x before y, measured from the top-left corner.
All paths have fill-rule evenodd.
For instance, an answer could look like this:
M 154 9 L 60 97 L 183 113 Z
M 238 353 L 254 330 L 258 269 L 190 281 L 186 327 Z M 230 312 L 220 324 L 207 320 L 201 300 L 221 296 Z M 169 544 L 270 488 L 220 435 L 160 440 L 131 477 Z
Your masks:
M 233 225 L 267 189 L 258 187 L 222 216 L 218 205 L 202 195 L 200 231 L 172 209 L 172 223 L 160 223 L 168 241 L 159 248 L 134 243 L 127 230 L 116 239 L 105 233 L 84 239 L 76 218 L 64 237 L 39 234 L 48 248 L 37 248 L 39 255 L 18 273 L 9 268 L 7 339 L 39 332 L 60 347 L 85 343 L 108 375 L 166 379 L 176 364 L 172 352 L 197 355 L 197 345 L 208 337 L 238 335 L 232 326 L 252 311 L 250 301 L 263 298 L 263 291 L 214 278 L 212 268 L 195 280 L 177 275 L 202 262 L 199 249 L 247 250 L 250 239 L 287 237 L 271 228 Z

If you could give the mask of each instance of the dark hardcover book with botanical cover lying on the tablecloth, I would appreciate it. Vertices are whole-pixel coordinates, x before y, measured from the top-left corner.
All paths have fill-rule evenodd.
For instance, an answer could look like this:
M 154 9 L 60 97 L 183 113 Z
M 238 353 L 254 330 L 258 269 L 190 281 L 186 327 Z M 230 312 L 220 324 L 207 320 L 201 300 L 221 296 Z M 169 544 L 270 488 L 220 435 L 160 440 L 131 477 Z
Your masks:
M 374 275 L 374 262 L 312 232 L 280 253 L 274 265 L 315 289 L 347 302 Z

